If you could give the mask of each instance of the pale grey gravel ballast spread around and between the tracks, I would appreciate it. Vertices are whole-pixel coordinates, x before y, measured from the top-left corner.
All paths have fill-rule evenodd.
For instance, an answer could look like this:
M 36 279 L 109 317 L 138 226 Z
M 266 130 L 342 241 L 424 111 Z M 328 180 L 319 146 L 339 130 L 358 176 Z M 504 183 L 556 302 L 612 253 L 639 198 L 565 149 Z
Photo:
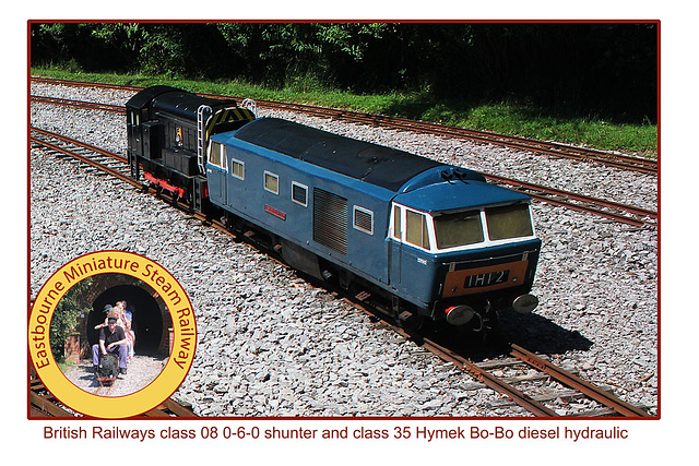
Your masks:
M 36 95 L 118 105 L 132 95 L 32 87 Z M 282 116 L 488 174 L 656 208 L 657 180 L 650 175 L 449 138 Z M 123 118 L 32 105 L 32 124 L 118 153 L 126 152 Z M 623 399 L 656 406 L 656 229 L 533 205 L 543 240 L 533 290 L 541 304 L 531 315 L 503 313 L 503 331 L 564 368 L 611 385 Z M 198 350 L 174 397 L 192 404 L 199 415 L 525 415 L 500 407 L 500 395 L 260 251 L 120 181 L 32 150 L 32 296 L 61 265 L 98 250 L 143 254 L 166 267 L 189 294 Z M 559 409 L 565 414 L 565 406 Z

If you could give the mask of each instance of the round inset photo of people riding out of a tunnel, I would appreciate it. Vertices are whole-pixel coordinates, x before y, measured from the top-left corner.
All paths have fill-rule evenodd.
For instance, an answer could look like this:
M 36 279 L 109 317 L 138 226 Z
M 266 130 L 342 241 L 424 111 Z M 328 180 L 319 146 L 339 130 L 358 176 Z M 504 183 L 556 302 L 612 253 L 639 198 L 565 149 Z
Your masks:
M 147 284 L 129 275 L 95 275 L 59 302 L 51 353 L 75 386 L 100 396 L 128 395 L 155 380 L 167 363 L 170 328 L 167 307 Z

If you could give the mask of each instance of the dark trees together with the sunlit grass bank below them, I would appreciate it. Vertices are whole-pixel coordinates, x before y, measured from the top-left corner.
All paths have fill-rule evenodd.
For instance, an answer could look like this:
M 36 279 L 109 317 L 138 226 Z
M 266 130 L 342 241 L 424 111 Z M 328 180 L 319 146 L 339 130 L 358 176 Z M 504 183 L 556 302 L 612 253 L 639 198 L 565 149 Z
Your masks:
M 123 84 L 656 151 L 655 23 L 33 23 L 31 38 L 33 67 Z

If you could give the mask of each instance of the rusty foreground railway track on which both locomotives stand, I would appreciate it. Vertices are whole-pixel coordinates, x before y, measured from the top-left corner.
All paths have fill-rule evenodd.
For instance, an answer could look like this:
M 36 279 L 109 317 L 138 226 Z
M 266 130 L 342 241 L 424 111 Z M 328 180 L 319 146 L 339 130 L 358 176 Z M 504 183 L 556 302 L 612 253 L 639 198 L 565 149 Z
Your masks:
M 108 174 L 116 176 L 119 179 L 122 179 L 132 186 L 139 187 L 141 189 L 144 188 L 141 183 L 133 181 L 128 175 L 125 175 L 120 170 L 112 169 L 109 166 L 105 165 L 103 162 L 95 162 L 90 156 L 86 156 L 84 154 L 85 148 L 81 147 L 82 143 L 79 143 L 74 140 L 70 140 L 68 138 L 58 136 L 47 131 L 35 130 L 35 129 L 32 129 L 32 131 L 33 132 L 36 131 L 35 134 L 32 135 L 32 142 L 35 145 L 47 147 L 51 152 L 57 154 L 70 155 L 71 157 L 75 157 L 76 159 L 84 162 L 92 167 L 107 171 Z M 49 142 L 49 141 L 46 141 L 45 139 L 60 139 L 60 140 L 63 140 L 64 145 L 59 145 L 56 142 Z M 88 145 L 86 146 L 88 151 L 97 152 L 95 151 L 96 147 L 88 146 Z M 104 152 L 102 151 L 98 151 L 97 153 L 100 155 L 104 155 Z M 123 158 L 120 156 L 112 154 L 112 157 L 123 162 Z M 189 210 L 187 205 L 180 204 L 176 200 L 171 200 L 171 199 L 168 200 L 168 195 L 165 193 L 156 192 L 155 190 L 150 190 L 150 189 L 149 191 L 155 192 L 157 195 L 163 196 L 166 201 L 168 201 L 174 206 L 180 210 L 186 210 L 186 211 Z M 194 217 L 199 218 L 200 220 L 209 225 L 214 226 L 215 228 L 218 228 L 223 231 L 228 231 L 225 228 L 225 226 L 217 220 L 212 220 L 211 218 L 206 218 L 205 216 L 200 214 L 193 214 L 193 215 Z M 244 238 L 244 239 L 250 240 L 250 238 Z M 359 309 L 363 309 L 366 312 L 371 313 L 372 315 L 376 315 L 375 310 L 368 309 L 368 304 L 364 300 L 364 298 L 360 298 L 360 299 L 347 298 L 347 299 L 353 303 L 353 306 Z M 396 332 L 403 334 L 406 338 L 408 339 L 414 338 L 414 335 L 411 335 L 405 328 L 399 326 L 398 324 L 393 324 L 391 322 L 388 322 L 388 324 L 391 325 Z M 524 348 L 521 348 L 513 344 L 509 345 L 509 353 L 510 353 L 510 356 L 513 358 L 513 360 L 507 360 L 506 362 L 498 361 L 496 363 L 497 366 L 494 366 L 493 363 L 474 363 L 469 358 L 463 357 L 454 353 L 453 350 L 450 350 L 439 345 L 436 342 L 433 342 L 430 339 L 423 339 L 423 338 L 420 338 L 420 340 L 423 342 L 423 347 L 425 349 L 437 355 L 442 360 L 453 363 L 455 367 L 463 370 L 464 372 L 466 372 L 477 381 L 482 382 L 486 386 L 495 390 L 500 394 L 506 395 L 514 404 L 523 407 L 534 416 L 558 417 L 559 415 L 556 413 L 556 410 L 545 405 L 544 402 L 547 399 L 547 395 L 538 395 L 538 396 L 529 395 L 525 393 L 525 391 L 520 390 L 516 386 L 519 383 L 531 381 L 533 379 L 538 379 L 538 380 L 545 379 L 545 380 L 556 381 L 561 385 L 565 385 L 572 390 L 572 392 L 570 393 L 556 392 L 553 395 L 555 398 L 569 397 L 570 399 L 574 399 L 576 397 L 584 396 L 595 401 L 601 406 L 599 409 L 595 409 L 593 411 L 583 411 L 578 414 L 577 416 L 582 416 L 582 417 L 599 417 L 599 416 L 648 417 L 649 416 L 648 413 L 645 413 L 643 409 L 640 409 L 628 403 L 623 402 L 615 395 L 578 378 L 577 375 L 561 368 L 554 366 L 553 363 L 546 361 L 542 357 L 534 355 L 533 353 L 528 351 Z M 508 379 L 508 378 L 497 377 L 490 371 L 494 367 L 502 367 L 503 365 L 513 366 L 516 362 L 524 363 L 530 368 L 534 368 L 537 371 L 540 371 L 543 375 L 537 375 L 533 378 L 528 374 L 526 377 L 519 377 L 519 378 L 516 377 L 516 378 Z M 50 394 L 39 395 L 39 392 L 42 392 L 42 390 L 45 391 L 43 385 L 40 386 L 39 385 L 40 385 L 40 382 L 36 382 L 36 383 L 32 382 L 31 399 L 32 399 L 33 415 L 34 413 L 39 413 L 39 414 L 44 413 L 47 416 L 66 416 L 64 413 L 68 413 L 68 411 L 64 411 L 62 408 L 60 408 L 60 406 L 57 405 L 57 401 L 51 399 Z M 176 403 L 171 405 L 174 403 L 171 401 L 169 401 L 169 403 L 170 405 L 164 404 L 163 406 L 155 408 L 153 413 L 149 411 L 147 414 L 145 414 L 145 416 L 189 416 L 187 414 L 183 414 L 183 415 L 179 414 L 179 413 L 187 413 L 186 407 L 181 408 L 183 411 L 182 410 L 178 411 L 178 409 L 180 409 L 178 407 L 179 405 L 177 405 Z

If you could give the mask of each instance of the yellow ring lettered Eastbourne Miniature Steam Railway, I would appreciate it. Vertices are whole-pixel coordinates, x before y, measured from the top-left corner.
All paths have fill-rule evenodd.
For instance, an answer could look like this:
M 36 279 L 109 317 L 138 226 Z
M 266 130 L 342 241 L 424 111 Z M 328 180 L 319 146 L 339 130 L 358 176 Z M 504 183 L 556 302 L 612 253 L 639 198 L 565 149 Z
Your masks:
M 167 306 L 174 331 L 173 350 L 161 374 L 140 391 L 118 397 L 94 395 L 73 385 L 58 368 L 49 345 L 51 316 L 63 295 L 78 282 L 107 273 L 130 275 L 149 284 Z M 183 382 L 197 350 L 194 312 L 185 289 L 157 263 L 126 251 L 88 253 L 59 268 L 34 300 L 27 336 L 32 365 L 47 390 L 71 409 L 106 419 L 138 416 L 167 399 Z

